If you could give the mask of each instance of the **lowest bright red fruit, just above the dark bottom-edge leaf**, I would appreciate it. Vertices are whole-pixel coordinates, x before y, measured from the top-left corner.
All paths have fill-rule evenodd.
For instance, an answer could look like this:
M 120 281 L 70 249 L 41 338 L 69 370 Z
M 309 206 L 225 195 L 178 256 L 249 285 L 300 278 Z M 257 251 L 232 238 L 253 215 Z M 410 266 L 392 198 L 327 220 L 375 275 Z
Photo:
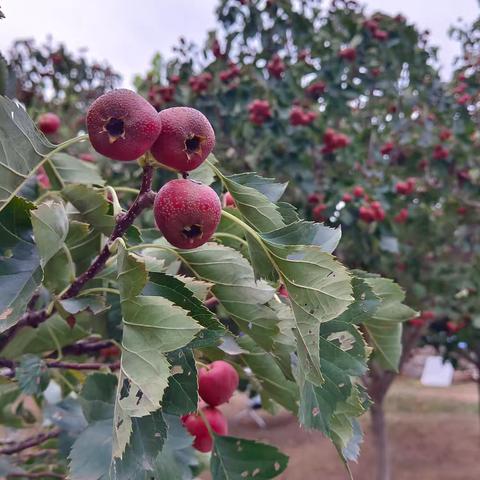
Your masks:
M 225 415 L 215 407 L 203 407 L 202 413 L 205 415 L 210 428 L 217 435 L 227 435 L 228 424 Z M 203 418 L 198 413 L 190 413 L 182 417 L 182 423 L 188 433 L 195 437 L 193 448 L 199 452 L 210 452 L 213 447 L 213 438 L 208 432 Z

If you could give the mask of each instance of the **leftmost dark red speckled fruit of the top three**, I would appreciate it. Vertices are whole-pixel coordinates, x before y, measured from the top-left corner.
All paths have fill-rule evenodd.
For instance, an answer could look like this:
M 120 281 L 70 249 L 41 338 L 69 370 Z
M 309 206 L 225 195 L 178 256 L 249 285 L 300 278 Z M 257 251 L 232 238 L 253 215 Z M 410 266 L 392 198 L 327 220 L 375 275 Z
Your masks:
M 87 112 L 87 130 L 93 148 L 114 160 L 141 157 L 161 129 L 162 122 L 155 108 L 131 90 L 105 93 Z

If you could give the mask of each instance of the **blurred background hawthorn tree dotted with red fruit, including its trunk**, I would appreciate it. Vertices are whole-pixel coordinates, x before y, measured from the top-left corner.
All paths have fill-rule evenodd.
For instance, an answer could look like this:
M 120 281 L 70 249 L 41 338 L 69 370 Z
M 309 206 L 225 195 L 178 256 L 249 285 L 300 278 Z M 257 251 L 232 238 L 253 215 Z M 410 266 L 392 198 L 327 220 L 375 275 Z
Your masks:
M 474 283 L 478 261 L 478 24 L 453 32 L 465 55 L 444 81 L 428 32 L 355 1 L 223 0 L 217 18 L 204 48 L 181 41 L 136 85 L 157 109 L 207 112 L 232 170 L 292 179 L 290 201 L 342 226 L 342 261 L 393 276 L 422 312 L 403 335 L 382 324 L 403 336 L 403 356 L 377 348 L 364 377 L 386 480 L 383 400 L 396 372 L 428 324 L 474 329 L 478 311 L 466 313 L 452 281 Z

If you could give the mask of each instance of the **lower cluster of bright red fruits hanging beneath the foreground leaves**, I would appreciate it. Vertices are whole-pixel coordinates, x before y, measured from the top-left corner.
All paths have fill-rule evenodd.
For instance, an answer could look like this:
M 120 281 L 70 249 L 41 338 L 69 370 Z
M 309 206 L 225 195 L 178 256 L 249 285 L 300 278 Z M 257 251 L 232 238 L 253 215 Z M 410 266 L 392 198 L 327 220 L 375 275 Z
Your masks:
M 230 400 L 238 382 L 237 371 L 223 360 L 217 360 L 198 372 L 198 394 L 207 405 L 200 406 L 200 412 L 184 415 L 182 423 L 194 437 L 193 447 L 200 452 L 212 450 L 213 438 L 209 427 L 217 435 L 227 435 L 227 419 L 216 407 Z

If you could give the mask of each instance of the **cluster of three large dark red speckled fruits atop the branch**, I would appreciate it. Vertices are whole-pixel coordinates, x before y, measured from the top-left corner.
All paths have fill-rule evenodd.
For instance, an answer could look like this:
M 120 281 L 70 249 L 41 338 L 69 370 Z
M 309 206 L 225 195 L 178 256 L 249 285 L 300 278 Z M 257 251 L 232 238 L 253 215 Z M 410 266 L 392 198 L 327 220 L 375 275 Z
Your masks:
M 157 112 L 130 90 L 99 97 L 87 112 L 93 148 L 114 160 L 136 160 L 150 151 L 162 165 L 184 173 L 205 161 L 215 145 L 215 133 L 198 110 L 174 107 Z M 155 221 L 165 238 L 178 248 L 196 248 L 215 232 L 221 216 L 218 195 L 207 185 L 178 179 L 157 193 Z

